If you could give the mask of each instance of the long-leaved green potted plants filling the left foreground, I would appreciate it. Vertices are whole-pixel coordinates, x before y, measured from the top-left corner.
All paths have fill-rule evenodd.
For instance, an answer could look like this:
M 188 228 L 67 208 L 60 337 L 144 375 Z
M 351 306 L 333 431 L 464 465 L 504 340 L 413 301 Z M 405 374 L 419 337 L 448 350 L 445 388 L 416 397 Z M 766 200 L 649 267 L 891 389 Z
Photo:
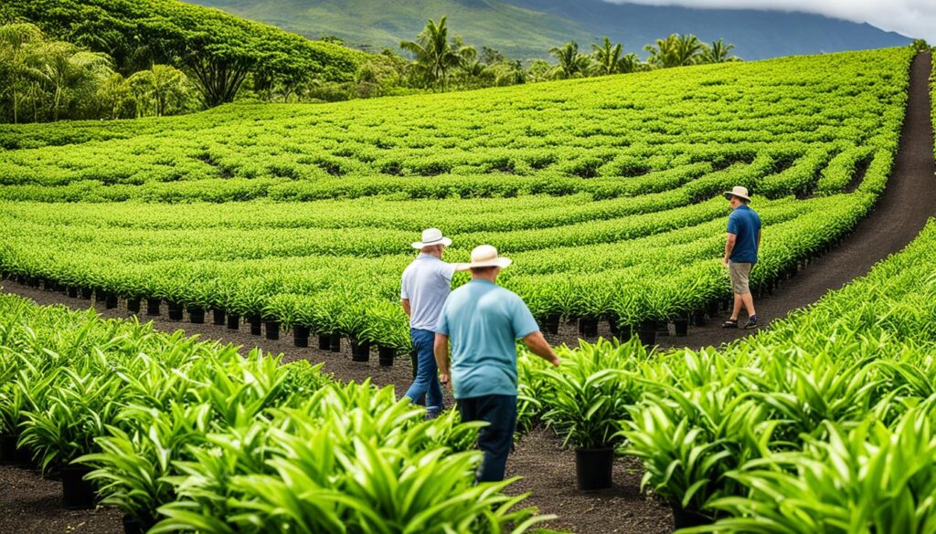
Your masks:
M 150 532 L 514 532 L 476 424 L 300 361 L 0 296 L 0 434 Z

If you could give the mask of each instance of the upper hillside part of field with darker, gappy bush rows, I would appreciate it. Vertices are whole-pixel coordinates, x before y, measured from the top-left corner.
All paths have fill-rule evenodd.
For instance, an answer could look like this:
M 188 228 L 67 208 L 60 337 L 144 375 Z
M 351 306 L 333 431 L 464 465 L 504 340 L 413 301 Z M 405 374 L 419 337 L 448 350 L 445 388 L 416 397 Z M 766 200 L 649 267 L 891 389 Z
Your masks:
M 896 136 L 910 58 L 890 49 L 328 106 L 228 106 L 132 129 L 13 127 L 0 143 L 20 148 L 0 161 L 0 183 L 3 198 L 42 201 L 607 197 L 680 183 L 648 173 L 722 169 L 788 145 L 810 157 L 791 184 L 768 180 L 765 193 L 789 195 L 826 157 Z

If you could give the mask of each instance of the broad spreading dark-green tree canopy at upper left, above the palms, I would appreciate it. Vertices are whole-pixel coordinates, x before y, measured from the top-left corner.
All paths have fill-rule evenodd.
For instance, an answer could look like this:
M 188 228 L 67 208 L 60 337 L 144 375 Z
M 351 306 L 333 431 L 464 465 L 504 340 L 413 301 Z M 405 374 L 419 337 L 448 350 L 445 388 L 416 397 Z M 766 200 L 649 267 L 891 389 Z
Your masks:
M 47 36 L 106 53 L 124 76 L 160 64 L 182 68 L 209 108 L 233 101 L 248 75 L 286 87 L 345 81 L 366 58 L 177 0 L 5 0 L 0 19 L 33 22 Z

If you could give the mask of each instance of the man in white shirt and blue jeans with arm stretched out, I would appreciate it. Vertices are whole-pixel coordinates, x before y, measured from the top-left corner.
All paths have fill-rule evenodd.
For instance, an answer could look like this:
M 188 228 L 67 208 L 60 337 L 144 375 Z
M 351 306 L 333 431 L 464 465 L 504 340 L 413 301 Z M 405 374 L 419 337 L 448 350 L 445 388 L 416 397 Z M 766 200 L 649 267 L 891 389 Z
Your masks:
M 422 233 L 422 240 L 413 243 L 419 255 L 403 270 L 400 300 L 410 318 L 410 336 L 417 351 L 417 375 L 406 397 L 425 404 L 427 415 L 435 417 L 443 409 L 442 387 L 432 347 L 435 326 L 442 306 L 452 287 L 452 275 L 468 270 L 468 264 L 446 264 L 442 253 L 452 240 L 437 228 Z

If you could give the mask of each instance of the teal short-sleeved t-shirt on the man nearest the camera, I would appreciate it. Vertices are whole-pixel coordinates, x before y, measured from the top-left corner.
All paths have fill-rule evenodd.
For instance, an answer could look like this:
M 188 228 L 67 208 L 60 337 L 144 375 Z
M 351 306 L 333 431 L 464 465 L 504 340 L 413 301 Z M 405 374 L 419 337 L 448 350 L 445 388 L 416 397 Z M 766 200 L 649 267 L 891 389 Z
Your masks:
M 455 398 L 517 395 L 517 339 L 539 331 L 515 293 L 473 280 L 448 296 L 435 331 L 452 346 Z

